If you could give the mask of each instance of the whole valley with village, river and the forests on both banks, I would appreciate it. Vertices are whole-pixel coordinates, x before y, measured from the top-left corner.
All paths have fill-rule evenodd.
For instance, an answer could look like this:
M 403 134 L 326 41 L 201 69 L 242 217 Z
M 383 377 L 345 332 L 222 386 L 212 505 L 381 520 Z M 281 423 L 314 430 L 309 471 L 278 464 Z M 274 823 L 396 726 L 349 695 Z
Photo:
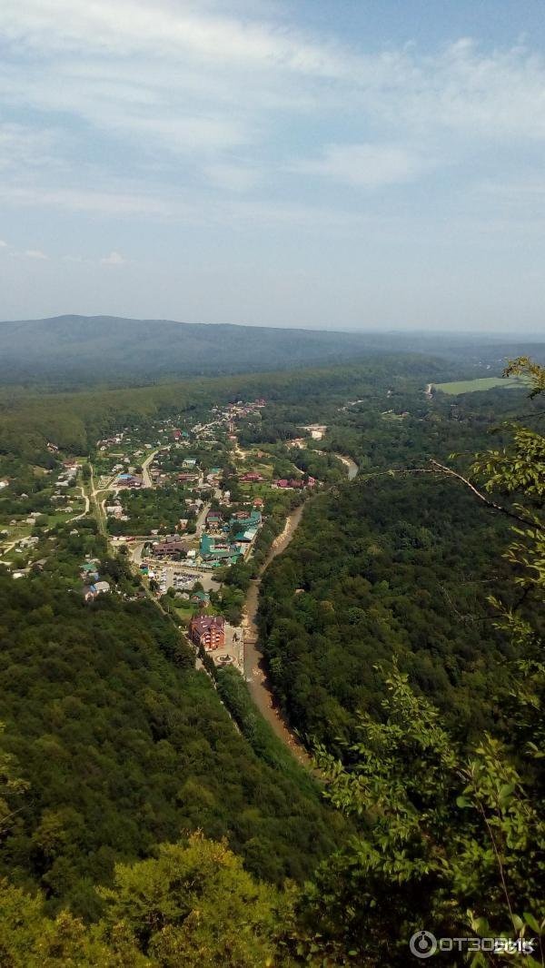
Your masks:
M 0 869 L 18 865 L 52 913 L 100 922 L 113 860 L 183 827 L 227 837 L 271 884 L 314 876 L 296 917 L 357 947 L 359 915 L 324 923 L 313 892 L 344 903 L 323 878 L 351 863 L 348 830 L 363 836 L 335 794 L 362 729 L 388 729 L 410 688 L 410 722 L 439 717 L 460 762 L 483 734 L 506 740 L 495 697 L 521 651 L 490 602 L 516 600 L 509 522 L 460 481 L 534 405 L 524 386 L 453 398 L 426 376 L 402 359 L 190 382 L 160 410 L 156 388 L 132 391 L 113 418 L 109 394 L 104 418 L 100 396 L 76 396 L 77 448 L 53 400 L 32 461 L 22 403 L 1 469 L 0 721 L 33 795 L 17 795 Z M 411 769 L 401 755 L 380 782 Z

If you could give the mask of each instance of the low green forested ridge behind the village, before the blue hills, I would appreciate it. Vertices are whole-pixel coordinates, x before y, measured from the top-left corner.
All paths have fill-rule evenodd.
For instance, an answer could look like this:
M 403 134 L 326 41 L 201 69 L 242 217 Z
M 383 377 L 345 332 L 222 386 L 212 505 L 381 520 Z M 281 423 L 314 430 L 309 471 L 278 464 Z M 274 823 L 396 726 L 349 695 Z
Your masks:
M 304 401 L 300 414 L 307 420 L 324 408 L 341 407 L 354 398 L 385 396 L 386 388 L 408 386 L 416 391 L 429 379 L 443 378 L 452 367 L 431 356 L 383 354 L 350 366 L 305 369 L 297 373 L 264 373 L 220 378 L 189 378 L 126 389 L 44 392 L 20 386 L 0 392 L 0 453 L 22 453 L 42 459 L 50 440 L 64 449 L 88 453 L 97 439 L 125 424 L 157 416 L 186 413 L 196 418 L 203 408 L 238 399 L 265 396 L 288 408 Z M 455 374 L 459 371 L 455 370 Z

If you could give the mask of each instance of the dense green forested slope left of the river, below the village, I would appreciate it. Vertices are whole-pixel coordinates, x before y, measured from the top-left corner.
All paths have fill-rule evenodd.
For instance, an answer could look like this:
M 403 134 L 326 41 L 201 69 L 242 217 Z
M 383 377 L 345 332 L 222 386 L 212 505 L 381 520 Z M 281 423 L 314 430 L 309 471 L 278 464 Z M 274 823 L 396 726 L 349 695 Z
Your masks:
M 78 556 L 98 553 L 124 594 L 83 602 Z M 233 728 L 174 625 L 134 599 L 122 560 L 72 536 L 56 569 L 0 575 L 2 748 L 26 789 L 0 867 L 53 907 L 95 915 L 113 863 L 145 857 L 182 831 L 227 836 L 257 876 L 301 880 L 335 844 L 318 788 L 257 758 Z

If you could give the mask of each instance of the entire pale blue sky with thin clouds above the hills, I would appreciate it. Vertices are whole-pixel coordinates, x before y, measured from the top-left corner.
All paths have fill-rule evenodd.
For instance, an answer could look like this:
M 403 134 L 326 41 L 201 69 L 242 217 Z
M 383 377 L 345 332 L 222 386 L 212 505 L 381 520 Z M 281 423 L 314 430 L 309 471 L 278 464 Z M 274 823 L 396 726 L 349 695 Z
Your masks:
M 0 318 L 545 333 L 542 0 L 1 0 Z

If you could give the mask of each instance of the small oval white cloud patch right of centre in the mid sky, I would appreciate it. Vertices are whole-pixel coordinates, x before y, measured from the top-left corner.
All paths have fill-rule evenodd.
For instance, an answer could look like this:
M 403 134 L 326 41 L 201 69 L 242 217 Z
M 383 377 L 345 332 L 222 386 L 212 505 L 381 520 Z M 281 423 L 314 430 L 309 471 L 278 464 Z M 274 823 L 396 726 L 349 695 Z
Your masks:
M 412 181 L 429 163 L 391 144 L 330 144 L 320 158 L 294 162 L 290 169 L 332 178 L 357 188 L 377 189 Z

